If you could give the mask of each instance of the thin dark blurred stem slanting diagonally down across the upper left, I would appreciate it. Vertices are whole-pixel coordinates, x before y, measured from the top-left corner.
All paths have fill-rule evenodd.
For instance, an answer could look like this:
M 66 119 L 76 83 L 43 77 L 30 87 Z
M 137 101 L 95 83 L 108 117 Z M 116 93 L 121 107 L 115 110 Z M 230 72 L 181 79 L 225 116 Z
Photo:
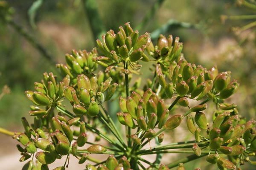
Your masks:
M 31 45 L 35 47 L 52 65 L 55 65 L 56 62 L 53 57 L 48 53 L 47 49 L 43 47 L 34 37 L 29 34 L 22 26 L 16 24 L 13 20 L 5 20 L 7 24 L 12 26 L 20 35 L 22 35 Z

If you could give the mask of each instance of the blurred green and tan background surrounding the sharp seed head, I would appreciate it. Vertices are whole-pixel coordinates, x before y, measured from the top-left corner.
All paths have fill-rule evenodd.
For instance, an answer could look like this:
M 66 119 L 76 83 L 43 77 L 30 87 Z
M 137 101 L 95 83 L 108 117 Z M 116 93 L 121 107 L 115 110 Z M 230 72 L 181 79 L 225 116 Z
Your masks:
M 90 51 L 100 33 L 126 22 L 154 41 L 159 34 L 180 37 L 188 62 L 231 71 L 240 87 L 227 102 L 255 119 L 255 0 L 0 0 L 0 127 L 22 130 L 20 118 L 31 119 L 32 104 L 24 91 L 44 72 L 58 75 L 55 64 L 65 63 L 66 53 Z M 21 169 L 16 141 L 0 139 L 0 161 L 14 154 Z

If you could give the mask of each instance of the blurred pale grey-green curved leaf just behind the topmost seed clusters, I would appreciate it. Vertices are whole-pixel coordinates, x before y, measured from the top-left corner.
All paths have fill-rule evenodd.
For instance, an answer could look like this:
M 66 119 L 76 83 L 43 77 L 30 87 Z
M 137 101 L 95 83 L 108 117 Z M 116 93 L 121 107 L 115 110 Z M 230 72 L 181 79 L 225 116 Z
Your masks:
M 166 32 L 177 30 L 177 28 L 196 28 L 196 26 L 192 23 L 180 22 L 177 20 L 169 20 L 165 25 L 160 28 L 152 31 L 150 37 L 152 40 L 157 40 L 159 34 L 165 34 Z

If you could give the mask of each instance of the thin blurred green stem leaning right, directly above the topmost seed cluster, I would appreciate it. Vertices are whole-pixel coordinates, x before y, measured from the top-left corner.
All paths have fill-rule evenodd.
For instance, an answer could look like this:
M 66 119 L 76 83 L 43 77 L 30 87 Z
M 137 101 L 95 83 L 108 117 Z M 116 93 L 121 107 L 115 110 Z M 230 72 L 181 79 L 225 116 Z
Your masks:
M 157 10 L 161 7 L 164 0 L 156 0 L 156 2 L 153 4 L 152 8 L 143 18 L 142 22 L 136 27 L 137 30 L 141 30 L 142 28 L 145 28 L 145 26 L 148 24 L 149 21 L 152 20 Z

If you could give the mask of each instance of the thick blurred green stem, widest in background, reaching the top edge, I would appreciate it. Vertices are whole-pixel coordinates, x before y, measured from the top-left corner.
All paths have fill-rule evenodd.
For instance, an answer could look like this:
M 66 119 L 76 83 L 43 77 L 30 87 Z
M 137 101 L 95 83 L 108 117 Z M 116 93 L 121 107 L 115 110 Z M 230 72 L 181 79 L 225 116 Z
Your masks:
M 93 32 L 93 40 L 100 39 L 106 32 L 103 21 L 99 15 L 96 0 L 82 0 L 84 11 L 90 23 L 90 28 Z

